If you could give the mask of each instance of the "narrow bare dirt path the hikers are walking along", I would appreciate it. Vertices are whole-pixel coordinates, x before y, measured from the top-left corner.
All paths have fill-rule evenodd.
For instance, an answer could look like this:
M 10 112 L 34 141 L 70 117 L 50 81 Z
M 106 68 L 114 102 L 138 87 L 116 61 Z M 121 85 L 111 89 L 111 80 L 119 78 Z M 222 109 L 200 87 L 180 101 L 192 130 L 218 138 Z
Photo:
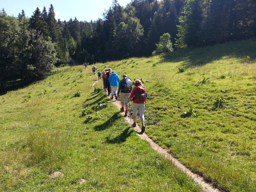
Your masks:
M 99 82 L 99 80 L 96 80 L 95 83 L 93 83 L 93 89 L 95 89 L 95 84 Z M 113 104 L 117 106 L 117 109 L 121 108 L 121 102 L 120 100 L 112 100 Z M 124 115 L 124 112 L 122 113 Z M 131 124 L 131 121 L 133 123 L 132 118 L 130 119 L 130 116 L 124 117 L 127 123 Z M 167 149 L 163 149 L 160 147 L 157 143 L 155 143 L 152 139 L 150 139 L 146 133 L 141 133 L 140 127 L 137 125 L 133 128 L 134 131 L 137 132 L 138 136 L 141 139 L 146 140 L 150 146 L 157 151 L 157 153 L 163 155 L 166 159 L 169 159 L 172 161 L 172 163 L 180 170 L 182 170 L 184 173 L 186 173 L 189 177 L 191 177 L 193 180 L 195 180 L 199 185 L 201 185 L 203 191 L 206 192 L 223 192 L 221 189 L 217 189 L 211 185 L 210 182 L 206 181 L 203 177 L 201 177 L 199 174 L 192 173 L 191 170 L 189 170 L 185 165 L 183 165 L 181 162 L 179 162 L 176 158 L 172 157 L 171 154 L 167 152 Z

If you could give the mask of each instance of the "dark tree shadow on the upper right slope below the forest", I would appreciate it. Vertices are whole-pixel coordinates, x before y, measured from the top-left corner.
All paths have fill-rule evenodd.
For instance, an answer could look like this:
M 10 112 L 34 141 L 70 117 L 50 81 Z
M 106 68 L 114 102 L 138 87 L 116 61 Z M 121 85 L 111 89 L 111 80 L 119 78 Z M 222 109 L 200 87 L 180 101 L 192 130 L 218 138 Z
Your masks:
M 162 58 L 159 57 L 159 64 L 162 62 L 180 63 L 184 67 L 200 67 L 212 61 L 225 58 L 245 59 L 247 56 L 254 60 L 256 53 L 255 38 L 207 46 L 195 49 L 179 49 L 172 53 L 166 53 Z

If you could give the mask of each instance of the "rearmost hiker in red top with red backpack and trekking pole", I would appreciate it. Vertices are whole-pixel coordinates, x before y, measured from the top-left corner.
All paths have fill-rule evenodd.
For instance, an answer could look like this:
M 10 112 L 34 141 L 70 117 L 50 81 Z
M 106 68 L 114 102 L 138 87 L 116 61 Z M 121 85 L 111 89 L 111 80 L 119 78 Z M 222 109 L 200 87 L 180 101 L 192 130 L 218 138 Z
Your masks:
M 129 96 L 129 99 L 132 99 L 132 114 L 133 114 L 133 124 L 132 127 L 136 127 L 136 114 L 139 109 L 140 120 L 142 123 L 141 131 L 145 131 L 144 125 L 144 112 L 145 112 L 145 101 L 147 99 L 147 91 L 143 87 L 141 80 L 136 79 L 134 81 L 134 86 L 132 89 L 132 93 Z M 143 93 L 141 92 L 143 91 Z

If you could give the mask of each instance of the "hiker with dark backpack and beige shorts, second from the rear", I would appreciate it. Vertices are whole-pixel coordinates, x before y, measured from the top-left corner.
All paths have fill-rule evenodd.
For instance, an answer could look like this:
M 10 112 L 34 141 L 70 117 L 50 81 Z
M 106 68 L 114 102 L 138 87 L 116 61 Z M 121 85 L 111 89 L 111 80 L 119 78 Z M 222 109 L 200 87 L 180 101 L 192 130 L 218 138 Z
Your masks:
M 129 96 L 132 91 L 132 80 L 127 77 L 126 74 L 123 75 L 123 79 L 118 83 L 118 91 L 117 97 L 120 97 L 121 100 L 121 109 L 120 112 L 124 112 L 124 103 L 125 103 L 125 114 L 124 117 L 127 116 L 128 113 L 128 103 L 129 103 Z M 121 91 L 121 93 L 120 93 Z M 119 95 L 120 93 L 120 95 Z

